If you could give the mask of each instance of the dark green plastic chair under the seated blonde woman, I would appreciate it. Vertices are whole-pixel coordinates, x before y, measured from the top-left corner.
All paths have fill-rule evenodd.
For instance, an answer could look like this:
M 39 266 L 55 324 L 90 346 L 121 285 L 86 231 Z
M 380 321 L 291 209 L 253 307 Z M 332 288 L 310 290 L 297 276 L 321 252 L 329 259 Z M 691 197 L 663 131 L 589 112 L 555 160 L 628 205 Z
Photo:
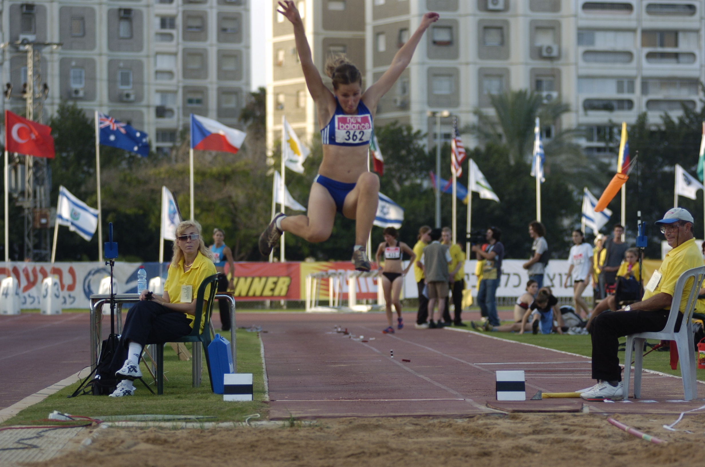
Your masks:
M 196 315 L 193 320 L 193 330 L 188 336 L 183 336 L 181 339 L 171 342 L 200 342 L 203 344 L 203 351 L 206 354 L 206 365 L 208 367 L 208 378 L 211 381 L 211 391 L 213 391 L 213 377 L 211 375 L 211 361 L 208 357 L 208 344 L 211 343 L 211 313 L 213 312 L 214 297 L 218 291 L 218 277 L 222 273 L 213 274 L 206 277 L 198 287 L 196 295 Z M 206 294 L 206 286 L 211 285 L 208 297 Z M 201 319 L 204 320 L 203 332 L 201 329 Z M 157 394 L 164 394 L 164 345 L 157 345 Z

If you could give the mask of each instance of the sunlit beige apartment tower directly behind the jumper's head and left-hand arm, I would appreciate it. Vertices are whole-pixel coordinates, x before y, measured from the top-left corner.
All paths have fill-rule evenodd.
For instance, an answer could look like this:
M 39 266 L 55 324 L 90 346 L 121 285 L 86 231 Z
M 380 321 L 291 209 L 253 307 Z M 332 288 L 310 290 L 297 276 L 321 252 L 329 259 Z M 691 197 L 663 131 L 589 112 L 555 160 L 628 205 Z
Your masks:
M 270 59 L 266 67 L 267 148 L 271 152 L 274 141 L 281 138 L 282 116 L 286 116 L 306 143 L 312 140 L 319 125 L 301 71 L 293 27 L 276 12 L 276 0 L 266 1 L 266 42 Z M 296 4 L 324 83 L 331 83 L 324 73 L 326 59 L 331 54 L 346 54 L 365 76 L 365 0 L 300 0 Z

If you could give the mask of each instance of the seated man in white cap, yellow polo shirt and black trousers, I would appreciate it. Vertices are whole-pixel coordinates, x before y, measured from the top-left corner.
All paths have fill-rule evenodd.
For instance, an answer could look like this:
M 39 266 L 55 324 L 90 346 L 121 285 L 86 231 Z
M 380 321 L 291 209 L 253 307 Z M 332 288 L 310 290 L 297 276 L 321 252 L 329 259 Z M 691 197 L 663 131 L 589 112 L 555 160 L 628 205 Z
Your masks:
M 643 301 L 627 305 L 623 310 L 602 313 L 595 318 L 592 325 L 592 377 L 597 380 L 597 384 L 580 395 L 583 399 L 620 401 L 628 397 L 622 390 L 618 339 L 637 332 L 663 330 L 680 274 L 703 265 L 700 249 L 693 238 L 693 217 L 687 210 L 674 207 L 656 225 L 661 226 L 661 232 L 673 250 L 666 253 L 661 267 L 644 286 Z M 681 312 L 685 310 L 691 288 L 692 281 L 683 287 Z M 680 329 L 682 317 L 681 314 L 676 321 L 675 332 Z

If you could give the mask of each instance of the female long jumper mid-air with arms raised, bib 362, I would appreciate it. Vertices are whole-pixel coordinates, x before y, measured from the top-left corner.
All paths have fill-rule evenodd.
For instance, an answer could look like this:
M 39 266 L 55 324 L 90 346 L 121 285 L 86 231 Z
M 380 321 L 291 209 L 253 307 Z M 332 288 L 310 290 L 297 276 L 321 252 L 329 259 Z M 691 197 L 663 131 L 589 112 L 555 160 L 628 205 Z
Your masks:
M 360 71 L 344 56 L 326 63 L 326 74 L 333 80 L 331 92 L 313 63 L 304 25 L 294 2 L 279 2 L 278 12 L 294 25 L 296 48 L 306 85 L 318 109 L 323 143 L 323 162 L 311 187 L 308 215 L 287 217 L 278 212 L 262 235 L 259 252 L 269 255 L 281 233 L 287 231 L 309 242 L 326 241 L 333 231 L 336 211 L 355 219 L 355 269 L 369 271 L 365 252 L 367 237 L 377 210 L 379 178 L 367 169 L 367 151 L 372 136 L 372 120 L 379 99 L 391 89 L 409 65 L 417 44 L 438 13 L 424 14 L 421 25 L 399 49 L 389 69 L 362 92 Z

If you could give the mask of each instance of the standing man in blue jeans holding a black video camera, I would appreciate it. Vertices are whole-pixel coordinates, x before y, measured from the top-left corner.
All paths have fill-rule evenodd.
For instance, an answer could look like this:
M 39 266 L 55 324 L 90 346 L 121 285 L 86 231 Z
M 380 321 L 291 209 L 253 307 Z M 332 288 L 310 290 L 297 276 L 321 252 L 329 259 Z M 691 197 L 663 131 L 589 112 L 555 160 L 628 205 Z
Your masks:
M 482 315 L 487 316 L 485 327 L 488 331 L 494 326 L 499 326 L 495 294 L 499 286 L 499 279 L 502 277 L 502 260 L 504 259 L 504 245 L 499 241 L 501 236 L 500 229 L 490 227 L 485 233 L 487 248 L 483 251 L 480 245 L 472 245 L 472 251 L 476 253 L 477 260 L 484 260 L 482 281 L 477 289 L 477 303 Z

